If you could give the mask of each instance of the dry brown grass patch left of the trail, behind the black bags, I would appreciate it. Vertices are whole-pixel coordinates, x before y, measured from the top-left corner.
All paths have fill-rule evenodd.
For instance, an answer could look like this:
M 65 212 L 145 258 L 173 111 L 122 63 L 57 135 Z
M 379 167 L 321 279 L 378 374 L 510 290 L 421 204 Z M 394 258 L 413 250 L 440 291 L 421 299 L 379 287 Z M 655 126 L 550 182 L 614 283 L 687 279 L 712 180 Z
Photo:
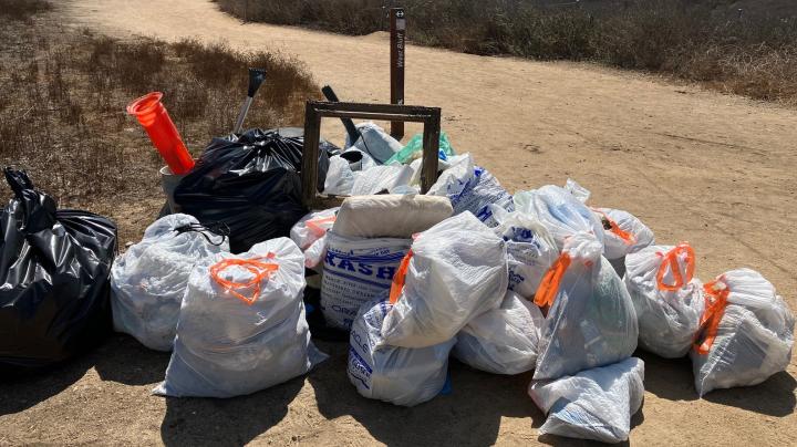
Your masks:
M 8 0 L 0 0 L 0 8 Z M 4 8 L 2 11 L 7 11 Z M 162 200 L 157 152 L 126 104 L 149 91 L 164 103 L 195 155 L 230 132 L 246 96 L 249 66 L 267 82 L 248 126 L 301 125 L 304 101 L 320 92 L 301 64 L 273 53 L 241 53 L 224 44 L 120 41 L 62 29 L 50 14 L 0 15 L 0 166 L 31 173 L 62 206 L 154 215 Z M 0 189 L 4 189 L 0 187 Z M 7 195 L 4 195 L 7 196 Z M 132 212 L 132 211 L 131 211 Z M 125 229 L 135 238 L 142 228 Z M 139 224 L 136 224 L 139 226 Z

